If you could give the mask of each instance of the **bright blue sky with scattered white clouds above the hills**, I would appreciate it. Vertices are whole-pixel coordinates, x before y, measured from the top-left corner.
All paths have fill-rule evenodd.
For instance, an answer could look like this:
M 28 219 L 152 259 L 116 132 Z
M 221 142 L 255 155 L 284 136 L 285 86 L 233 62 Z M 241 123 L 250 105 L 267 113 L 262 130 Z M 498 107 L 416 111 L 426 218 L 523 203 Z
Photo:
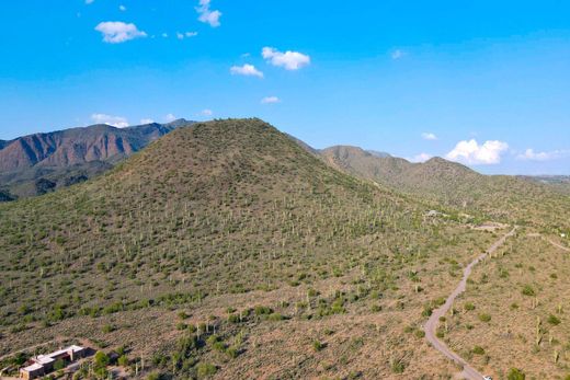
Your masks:
M 0 139 L 256 116 L 317 148 L 570 174 L 569 14 L 563 1 L 5 1 Z

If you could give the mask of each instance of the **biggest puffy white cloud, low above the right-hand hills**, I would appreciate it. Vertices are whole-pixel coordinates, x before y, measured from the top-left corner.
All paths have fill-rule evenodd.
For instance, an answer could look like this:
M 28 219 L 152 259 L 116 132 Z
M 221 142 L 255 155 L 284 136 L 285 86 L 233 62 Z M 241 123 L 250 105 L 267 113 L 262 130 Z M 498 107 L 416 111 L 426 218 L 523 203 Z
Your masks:
M 451 161 L 463 162 L 467 164 L 497 164 L 501 163 L 501 154 L 509 149 L 509 145 L 503 141 L 490 140 L 483 145 L 477 143 L 477 140 L 463 140 L 457 142 L 454 150 L 447 153 L 446 158 Z

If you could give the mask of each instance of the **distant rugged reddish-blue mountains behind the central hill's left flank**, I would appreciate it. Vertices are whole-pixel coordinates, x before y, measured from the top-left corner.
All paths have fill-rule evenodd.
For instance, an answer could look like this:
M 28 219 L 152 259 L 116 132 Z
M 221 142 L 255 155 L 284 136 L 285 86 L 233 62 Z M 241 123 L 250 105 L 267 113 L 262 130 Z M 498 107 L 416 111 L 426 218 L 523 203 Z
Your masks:
M 93 125 L 0 140 L 0 201 L 86 181 L 192 123 L 178 119 L 128 128 Z

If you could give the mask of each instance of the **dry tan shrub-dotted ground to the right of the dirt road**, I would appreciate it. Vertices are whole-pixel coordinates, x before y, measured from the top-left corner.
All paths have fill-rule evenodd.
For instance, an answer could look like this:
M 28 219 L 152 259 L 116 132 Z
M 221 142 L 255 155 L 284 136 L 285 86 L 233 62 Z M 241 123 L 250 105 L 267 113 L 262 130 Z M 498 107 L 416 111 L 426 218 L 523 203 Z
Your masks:
M 518 234 L 475 269 L 458 313 L 449 315 L 451 346 L 493 378 L 511 368 L 531 379 L 570 375 L 569 275 L 568 252 Z M 466 311 L 468 303 L 475 310 Z

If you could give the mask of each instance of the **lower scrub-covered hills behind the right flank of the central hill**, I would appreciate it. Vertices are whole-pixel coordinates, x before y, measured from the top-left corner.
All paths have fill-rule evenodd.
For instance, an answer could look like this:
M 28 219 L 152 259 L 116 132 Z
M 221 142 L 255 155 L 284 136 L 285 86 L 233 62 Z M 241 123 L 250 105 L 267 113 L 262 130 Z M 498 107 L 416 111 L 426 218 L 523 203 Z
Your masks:
M 375 157 L 354 147 L 320 151 L 329 164 L 353 175 L 469 214 L 518 223 L 569 229 L 570 198 L 546 185 L 505 175 L 482 175 L 441 158 L 411 163 Z

